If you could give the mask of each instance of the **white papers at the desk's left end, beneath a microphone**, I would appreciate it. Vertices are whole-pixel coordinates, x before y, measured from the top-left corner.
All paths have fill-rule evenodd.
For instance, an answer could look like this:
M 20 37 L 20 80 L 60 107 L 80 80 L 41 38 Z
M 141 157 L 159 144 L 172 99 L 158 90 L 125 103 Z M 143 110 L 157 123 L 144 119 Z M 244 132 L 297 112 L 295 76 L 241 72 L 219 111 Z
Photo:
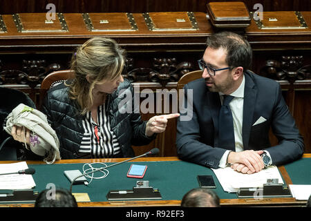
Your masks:
M 24 161 L 0 164 L 0 174 L 14 173 L 25 169 L 28 169 L 28 165 Z M 0 189 L 32 189 L 35 186 L 35 180 L 29 174 L 0 175 Z

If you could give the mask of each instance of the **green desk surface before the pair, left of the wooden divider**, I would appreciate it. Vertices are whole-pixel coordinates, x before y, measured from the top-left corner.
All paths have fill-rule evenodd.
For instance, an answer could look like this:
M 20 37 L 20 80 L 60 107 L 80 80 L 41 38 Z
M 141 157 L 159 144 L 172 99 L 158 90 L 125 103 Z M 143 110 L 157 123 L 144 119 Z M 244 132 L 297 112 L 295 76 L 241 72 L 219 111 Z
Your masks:
M 107 165 L 111 163 L 106 163 Z M 143 179 L 126 177 L 131 164 L 147 165 L 147 172 Z M 35 191 L 46 189 L 48 184 L 57 187 L 70 188 L 70 182 L 64 175 L 66 170 L 79 169 L 82 171 L 83 164 L 29 164 L 36 173 L 33 176 L 36 187 Z M 97 164 L 100 167 L 100 164 Z M 182 196 L 190 189 L 198 186 L 197 175 L 213 175 L 216 183 L 216 193 L 221 199 L 236 198 L 234 193 L 225 193 L 218 182 L 214 172 L 204 166 L 182 161 L 161 162 L 126 162 L 108 169 L 109 175 L 101 180 L 93 180 L 88 186 L 74 185 L 73 193 L 88 193 L 92 202 L 108 201 L 106 194 L 111 190 L 131 190 L 136 186 L 137 180 L 149 180 L 149 186 L 159 189 L 162 200 L 181 200 Z M 101 173 L 95 173 L 101 176 Z

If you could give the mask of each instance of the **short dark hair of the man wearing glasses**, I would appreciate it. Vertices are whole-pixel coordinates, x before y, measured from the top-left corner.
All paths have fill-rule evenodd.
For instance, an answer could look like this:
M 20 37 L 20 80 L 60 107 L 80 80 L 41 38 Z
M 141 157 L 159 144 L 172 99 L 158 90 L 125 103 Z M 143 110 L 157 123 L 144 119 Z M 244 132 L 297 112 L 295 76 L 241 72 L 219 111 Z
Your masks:
M 229 67 L 242 66 L 244 70 L 252 66 L 252 47 L 249 42 L 234 32 L 218 32 L 207 38 L 207 47 L 227 50 L 226 62 Z

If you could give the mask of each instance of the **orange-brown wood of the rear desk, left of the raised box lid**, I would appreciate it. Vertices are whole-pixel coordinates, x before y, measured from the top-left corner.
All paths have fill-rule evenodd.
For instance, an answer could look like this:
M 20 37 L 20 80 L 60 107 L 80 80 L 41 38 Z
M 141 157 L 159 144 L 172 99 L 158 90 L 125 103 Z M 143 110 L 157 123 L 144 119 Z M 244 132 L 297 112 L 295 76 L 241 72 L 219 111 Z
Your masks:
M 163 19 L 170 19 L 169 14 L 166 12 L 163 13 Z M 183 12 L 185 13 L 185 12 Z M 158 13 L 157 13 L 158 14 Z M 21 14 L 23 15 L 23 14 Z M 42 17 L 45 14 L 32 14 L 33 17 Z M 142 13 L 133 13 L 133 18 L 135 19 L 135 23 L 137 24 L 138 30 L 136 31 L 100 31 L 100 32 L 91 32 L 86 28 L 84 23 L 82 14 L 77 13 L 64 13 L 64 18 L 66 19 L 66 23 L 68 25 L 68 32 L 18 32 L 15 22 L 13 20 L 12 15 L 2 15 L 4 23 L 6 23 L 6 27 L 8 32 L 4 32 L 0 34 L 0 40 L 9 40 L 8 45 L 16 46 L 38 46 L 38 45 L 47 45 L 50 43 L 51 46 L 55 45 L 78 45 L 82 44 L 86 39 L 95 36 L 105 36 L 105 37 L 120 37 L 123 42 L 126 44 L 131 44 L 131 41 L 136 44 L 144 45 L 151 44 L 149 41 L 150 38 L 153 40 L 158 40 L 158 42 L 153 42 L 153 44 L 157 43 L 169 43 L 167 37 L 169 39 L 182 39 L 185 37 L 203 37 L 205 39 L 207 37 L 207 33 L 212 32 L 212 27 L 209 24 L 206 14 L 203 12 L 194 12 L 196 17 L 196 21 L 198 22 L 198 30 L 178 30 L 172 29 L 167 31 L 155 32 L 153 30 L 149 30 L 147 23 L 144 21 L 144 17 Z M 29 25 L 28 25 L 29 26 Z M 117 27 L 116 27 L 117 28 Z M 19 39 L 20 41 L 15 41 Z M 59 41 L 62 39 L 62 41 Z M 124 41 L 126 39 L 126 41 Z M 133 41 L 136 39 L 136 41 Z M 165 40 L 166 39 L 166 40 Z M 198 42 L 202 42 L 198 41 Z M 35 42 L 37 40 L 37 42 Z M 139 41 L 137 41 L 139 40 Z M 178 40 L 180 42 L 180 40 Z M 6 41 L 4 41 L 6 42 Z M 33 44 L 32 44 L 33 42 Z M 189 42 L 189 39 L 185 41 Z M 204 42 L 204 40 L 203 40 Z M 122 44 L 122 42 L 121 42 Z M 3 47 L 3 45 L 1 46 Z

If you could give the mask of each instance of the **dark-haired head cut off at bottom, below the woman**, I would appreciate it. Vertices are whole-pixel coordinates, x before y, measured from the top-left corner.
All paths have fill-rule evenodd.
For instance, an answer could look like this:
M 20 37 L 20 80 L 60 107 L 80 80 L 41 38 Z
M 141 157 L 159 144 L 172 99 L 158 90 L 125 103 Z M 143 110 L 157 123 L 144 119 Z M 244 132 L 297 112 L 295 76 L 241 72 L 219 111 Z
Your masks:
M 75 197 L 66 189 L 56 189 L 55 193 L 51 189 L 41 191 L 37 196 L 35 207 L 77 207 Z M 53 194 L 55 196 L 53 197 Z

